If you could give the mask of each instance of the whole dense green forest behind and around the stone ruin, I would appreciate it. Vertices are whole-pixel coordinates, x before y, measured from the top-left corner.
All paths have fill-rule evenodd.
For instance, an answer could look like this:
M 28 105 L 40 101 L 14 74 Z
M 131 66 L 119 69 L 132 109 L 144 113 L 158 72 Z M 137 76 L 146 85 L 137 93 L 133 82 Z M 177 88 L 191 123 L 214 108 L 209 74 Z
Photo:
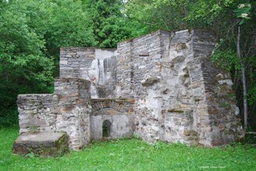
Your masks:
M 116 47 L 154 30 L 201 27 L 215 31 L 212 61 L 232 75 L 240 117 L 248 117 L 247 130 L 256 129 L 255 6 L 246 0 L 0 0 L 0 127 L 18 123 L 18 94 L 53 92 L 59 47 Z

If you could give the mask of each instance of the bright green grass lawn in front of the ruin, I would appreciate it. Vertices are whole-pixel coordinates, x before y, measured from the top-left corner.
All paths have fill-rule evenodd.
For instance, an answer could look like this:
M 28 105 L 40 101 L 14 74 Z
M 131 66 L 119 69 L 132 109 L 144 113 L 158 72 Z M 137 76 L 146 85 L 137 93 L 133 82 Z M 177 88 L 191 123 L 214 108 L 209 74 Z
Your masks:
M 94 143 L 59 158 L 12 154 L 17 128 L 0 129 L 0 170 L 256 170 L 256 148 L 187 147 L 138 139 Z

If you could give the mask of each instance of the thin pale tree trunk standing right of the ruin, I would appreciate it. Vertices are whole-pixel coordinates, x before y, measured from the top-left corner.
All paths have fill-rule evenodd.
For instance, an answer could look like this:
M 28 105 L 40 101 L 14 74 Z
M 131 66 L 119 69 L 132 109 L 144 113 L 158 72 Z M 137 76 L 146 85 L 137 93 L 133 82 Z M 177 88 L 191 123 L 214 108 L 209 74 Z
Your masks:
M 237 56 L 238 58 L 241 59 L 241 62 L 242 62 L 242 69 L 241 69 L 241 72 L 242 72 L 242 75 L 241 75 L 241 79 L 242 79 L 242 84 L 243 84 L 243 99 L 244 99 L 244 129 L 247 130 L 247 87 L 246 87 L 246 75 L 245 75 L 245 68 L 244 68 L 244 61 L 242 59 L 242 56 L 241 56 L 241 52 L 240 52 L 240 36 L 241 36 L 241 33 L 240 33 L 240 25 L 238 25 L 238 30 L 237 30 L 237 43 L 236 43 L 236 53 L 237 53 Z

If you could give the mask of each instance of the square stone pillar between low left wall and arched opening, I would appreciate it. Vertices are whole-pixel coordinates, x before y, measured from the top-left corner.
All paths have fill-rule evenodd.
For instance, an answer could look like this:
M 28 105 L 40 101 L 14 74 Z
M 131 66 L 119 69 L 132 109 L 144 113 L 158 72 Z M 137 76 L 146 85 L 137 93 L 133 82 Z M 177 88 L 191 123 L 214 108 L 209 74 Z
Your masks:
M 69 135 L 69 148 L 78 150 L 90 141 L 89 105 L 91 82 L 84 79 L 56 79 L 55 94 L 59 96 L 56 130 Z

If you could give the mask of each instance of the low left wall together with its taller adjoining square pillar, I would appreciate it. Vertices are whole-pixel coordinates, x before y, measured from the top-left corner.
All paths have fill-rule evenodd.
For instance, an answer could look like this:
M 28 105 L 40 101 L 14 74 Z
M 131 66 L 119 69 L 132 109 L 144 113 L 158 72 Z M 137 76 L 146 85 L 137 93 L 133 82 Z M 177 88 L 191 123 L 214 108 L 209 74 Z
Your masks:
M 20 134 L 65 131 L 69 148 L 78 150 L 90 141 L 91 82 L 56 79 L 55 94 L 19 95 Z

